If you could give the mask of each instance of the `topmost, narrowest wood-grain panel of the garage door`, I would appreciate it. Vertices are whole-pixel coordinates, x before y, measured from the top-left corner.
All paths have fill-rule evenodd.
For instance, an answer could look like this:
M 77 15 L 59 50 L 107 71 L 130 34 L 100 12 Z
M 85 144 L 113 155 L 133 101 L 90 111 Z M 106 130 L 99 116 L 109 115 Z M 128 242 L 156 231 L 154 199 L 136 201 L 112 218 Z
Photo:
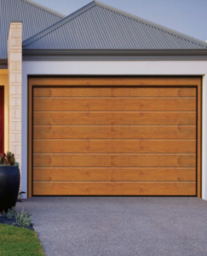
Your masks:
M 197 88 L 183 87 L 36 87 L 34 97 L 196 97 Z

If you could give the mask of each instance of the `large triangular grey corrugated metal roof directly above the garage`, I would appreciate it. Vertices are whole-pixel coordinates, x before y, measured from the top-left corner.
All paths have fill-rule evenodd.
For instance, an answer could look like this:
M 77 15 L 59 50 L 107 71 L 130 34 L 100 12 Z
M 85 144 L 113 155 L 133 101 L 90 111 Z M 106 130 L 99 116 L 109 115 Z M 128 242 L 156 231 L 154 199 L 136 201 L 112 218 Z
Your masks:
M 96 1 L 23 42 L 24 49 L 207 49 L 207 44 Z

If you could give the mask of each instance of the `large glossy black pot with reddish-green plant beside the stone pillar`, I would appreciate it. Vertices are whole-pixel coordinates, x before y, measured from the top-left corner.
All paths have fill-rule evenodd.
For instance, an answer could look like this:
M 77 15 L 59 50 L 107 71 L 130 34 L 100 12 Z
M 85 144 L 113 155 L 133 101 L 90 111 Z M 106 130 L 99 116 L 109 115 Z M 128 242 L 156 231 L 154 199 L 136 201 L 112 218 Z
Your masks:
M 14 154 L 0 154 L 0 211 L 15 207 L 20 189 L 20 169 Z

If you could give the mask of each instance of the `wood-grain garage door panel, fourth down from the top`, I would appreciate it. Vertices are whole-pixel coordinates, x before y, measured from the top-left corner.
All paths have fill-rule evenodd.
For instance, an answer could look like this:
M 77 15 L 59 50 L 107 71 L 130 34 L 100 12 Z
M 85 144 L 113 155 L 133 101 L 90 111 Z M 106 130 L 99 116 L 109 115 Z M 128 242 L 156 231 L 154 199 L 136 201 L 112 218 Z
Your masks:
M 34 139 L 196 139 L 196 125 L 33 126 Z

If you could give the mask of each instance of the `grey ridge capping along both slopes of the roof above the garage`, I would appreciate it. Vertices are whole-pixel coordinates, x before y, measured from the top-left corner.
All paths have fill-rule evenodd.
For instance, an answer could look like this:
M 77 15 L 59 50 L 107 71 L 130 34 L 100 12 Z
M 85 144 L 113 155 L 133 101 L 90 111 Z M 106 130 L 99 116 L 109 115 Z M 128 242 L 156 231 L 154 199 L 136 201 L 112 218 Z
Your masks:
M 28 1 L 28 0 L 23 0 L 23 1 Z M 174 31 L 174 30 L 172 30 L 170 28 L 158 25 L 156 23 L 153 23 L 152 21 L 142 19 L 142 18 L 140 18 L 138 16 L 131 15 L 131 14 L 127 13 L 127 12 L 124 12 L 124 11 L 122 11 L 120 9 L 113 8 L 113 7 L 109 6 L 109 5 L 106 5 L 105 3 L 100 3 L 100 2 L 98 2 L 96 0 L 88 3 L 87 5 L 83 6 L 81 9 L 78 9 L 77 11 L 73 12 L 71 15 L 66 16 L 64 19 L 59 20 L 54 25 L 49 26 L 48 28 L 46 28 L 42 32 L 38 32 L 36 35 L 32 36 L 31 38 L 27 38 L 25 41 L 23 41 L 23 46 L 26 46 L 28 44 L 32 44 L 32 43 L 36 42 L 37 39 L 42 38 L 43 36 L 49 34 L 49 32 L 54 31 L 56 28 L 64 25 L 66 22 L 74 19 L 78 15 L 83 14 L 85 11 L 87 11 L 87 10 L 89 10 L 89 9 L 95 7 L 95 6 L 99 6 L 99 7 L 103 8 L 103 9 L 110 10 L 110 11 L 112 11 L 112 12 L 118 14 L 118 15 L 123 15 L 124 17 L 129 18 L 131 20 L 135 20 L 135 21 L 141 22 L 143 24 L 146 24 L 147 26 L 151 26 L 151 27 L 154 27 L 154 28 L 156 28 L 158 30 L 167 32 L 167 33 L 169 33 L 172 36 L 175 36 L 177 38 L 181 38 L 183 40 L 187 40 L 188 42 L 190 42 L 192 44 L 202 45 L 203 47 L 207 48 L 207 43 L 205 43 L 204 41 L 201 41 L 201 40 L 199 40 L 197 38 L 192 38 L 192 37 L 187 36 L 187 35 L 185 35 L 185 34 L 183 34 L 181 32 L 176 32 L 176 31 Z

